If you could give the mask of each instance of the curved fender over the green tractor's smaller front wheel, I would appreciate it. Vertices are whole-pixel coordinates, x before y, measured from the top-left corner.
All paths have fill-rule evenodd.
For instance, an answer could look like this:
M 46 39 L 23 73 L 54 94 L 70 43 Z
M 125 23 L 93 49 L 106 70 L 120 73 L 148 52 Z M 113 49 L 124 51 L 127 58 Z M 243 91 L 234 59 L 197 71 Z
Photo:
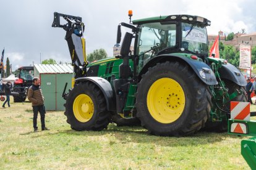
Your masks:
M 106 79 L 100 78 L 100 77 L 82 77 L 82 78 L 75 79 L 76 83 L 80 81 L 83 81 L 83 82 L 90 81 L 91 83 L 99 87 L 106 99 L 108 110 L 109 111 L 116 110 L 116 100 L 114 98 L 113 89 L 111 87 L 111 84 Z

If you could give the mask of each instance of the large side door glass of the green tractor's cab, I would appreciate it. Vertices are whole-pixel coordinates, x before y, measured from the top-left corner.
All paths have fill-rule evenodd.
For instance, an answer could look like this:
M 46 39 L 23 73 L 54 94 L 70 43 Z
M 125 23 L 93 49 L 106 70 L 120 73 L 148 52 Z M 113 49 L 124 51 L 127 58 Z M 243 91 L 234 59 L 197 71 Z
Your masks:
M 166 48 L 176 45 L 176 23 L 145 23 L 139 32 L 139 71 L 150 59 Z

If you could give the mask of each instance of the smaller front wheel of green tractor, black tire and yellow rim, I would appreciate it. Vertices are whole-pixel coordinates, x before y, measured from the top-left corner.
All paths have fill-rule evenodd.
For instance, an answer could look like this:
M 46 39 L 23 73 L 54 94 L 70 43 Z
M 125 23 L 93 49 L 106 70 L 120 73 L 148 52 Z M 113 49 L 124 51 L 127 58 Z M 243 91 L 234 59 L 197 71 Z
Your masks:
M 75 131 L 101 131 L 111 120 L 103 93 L 90 82 L 75 84 L 64 106 L 67 123 Z

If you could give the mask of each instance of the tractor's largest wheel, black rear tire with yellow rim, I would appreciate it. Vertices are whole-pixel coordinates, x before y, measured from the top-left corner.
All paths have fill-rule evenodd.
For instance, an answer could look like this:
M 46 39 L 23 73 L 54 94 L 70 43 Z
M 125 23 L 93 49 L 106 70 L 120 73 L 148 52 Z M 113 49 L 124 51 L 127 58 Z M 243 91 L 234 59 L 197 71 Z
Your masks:
M 211 95 L 188 65 L 157 63 L 138 84 L 137 116 L 150 134 L 184 136 L 205 126 Z

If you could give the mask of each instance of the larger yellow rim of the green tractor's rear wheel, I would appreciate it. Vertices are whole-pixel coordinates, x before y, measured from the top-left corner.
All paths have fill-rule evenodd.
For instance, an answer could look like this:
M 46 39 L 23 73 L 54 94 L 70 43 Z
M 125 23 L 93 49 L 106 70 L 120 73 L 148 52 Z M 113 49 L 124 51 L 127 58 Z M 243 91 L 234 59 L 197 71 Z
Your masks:
M 147 107 L 150 115 L 160 123 L 173 123 L 185 108 L 185 94 L 179 83 L 171 78 L 155 81 L 148 91 Z

